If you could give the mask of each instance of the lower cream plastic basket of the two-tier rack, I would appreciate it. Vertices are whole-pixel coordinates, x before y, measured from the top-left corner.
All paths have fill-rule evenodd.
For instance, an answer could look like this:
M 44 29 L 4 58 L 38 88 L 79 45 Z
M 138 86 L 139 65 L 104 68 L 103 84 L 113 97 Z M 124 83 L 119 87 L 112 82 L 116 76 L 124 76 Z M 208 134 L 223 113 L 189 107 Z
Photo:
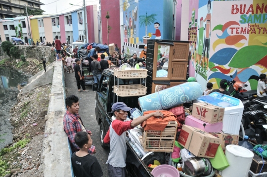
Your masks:
M 113 91 L 118 96 L 141 96 L 146 94 L 147 87 L 144 87 L 141 84 L 137 85 L 123 85 L 123 86 L 114 86 Z

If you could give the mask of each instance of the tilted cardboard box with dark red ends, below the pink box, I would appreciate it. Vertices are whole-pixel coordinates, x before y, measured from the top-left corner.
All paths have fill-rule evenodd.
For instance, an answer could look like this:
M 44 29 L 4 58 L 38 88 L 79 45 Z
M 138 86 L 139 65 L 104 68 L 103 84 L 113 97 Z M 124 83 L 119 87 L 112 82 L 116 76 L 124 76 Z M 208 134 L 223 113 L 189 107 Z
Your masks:
M 183 125 L 178 142 L 197 157 L 214 158 L 221 140 L 198 128 Z

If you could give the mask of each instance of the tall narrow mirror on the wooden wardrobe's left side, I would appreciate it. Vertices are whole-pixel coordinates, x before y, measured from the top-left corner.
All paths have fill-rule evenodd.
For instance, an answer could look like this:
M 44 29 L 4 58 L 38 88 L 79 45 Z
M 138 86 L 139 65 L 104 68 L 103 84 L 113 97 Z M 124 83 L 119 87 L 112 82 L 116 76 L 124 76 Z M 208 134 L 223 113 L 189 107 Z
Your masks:
M 157 78 L 167 78 L 169 68 L 170 45 L 158 45 Z

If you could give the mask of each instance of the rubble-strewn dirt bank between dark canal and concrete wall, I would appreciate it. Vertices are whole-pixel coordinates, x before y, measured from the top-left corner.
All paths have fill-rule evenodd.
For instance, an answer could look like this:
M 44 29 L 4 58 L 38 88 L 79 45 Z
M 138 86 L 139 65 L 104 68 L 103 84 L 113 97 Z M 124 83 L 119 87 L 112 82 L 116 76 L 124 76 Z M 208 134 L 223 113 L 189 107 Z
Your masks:
M 19 168 L 12 177 L 42 177 L 39 171 L 42 144 L 45 131 L 45 115 L 49 104 L 51 85 L 45 85 L 30 91 L 26 95 L 19 94 L 17 103 L 10 110 L 10 123 L 13 126 L 13 142 L 30 139 L 23 148 L 16 148 L 4 154 L 1 160 L 9 164 L 8 171 Z M 11 144 L 8 147 L 13 146 Z

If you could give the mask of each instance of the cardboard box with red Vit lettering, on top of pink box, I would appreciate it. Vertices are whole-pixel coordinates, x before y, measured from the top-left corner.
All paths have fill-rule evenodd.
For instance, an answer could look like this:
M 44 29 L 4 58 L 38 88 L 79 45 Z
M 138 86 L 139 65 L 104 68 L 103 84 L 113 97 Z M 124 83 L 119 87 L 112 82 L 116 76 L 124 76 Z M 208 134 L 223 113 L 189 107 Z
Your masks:
M 224 108 L 208 103 L 194 103 L 192 116 L 201 121 L 215 124 L 223 122 Z

